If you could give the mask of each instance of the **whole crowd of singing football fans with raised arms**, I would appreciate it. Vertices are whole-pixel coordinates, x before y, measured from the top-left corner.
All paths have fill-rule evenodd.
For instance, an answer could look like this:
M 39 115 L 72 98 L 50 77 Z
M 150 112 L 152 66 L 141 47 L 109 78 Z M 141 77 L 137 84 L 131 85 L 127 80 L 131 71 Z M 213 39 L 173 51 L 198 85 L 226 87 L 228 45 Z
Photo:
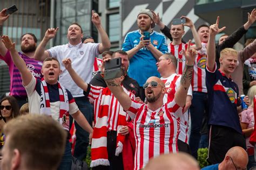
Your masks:
M 73 157 L 86 158 L 89 144 L 92 169 L 199 169 L 199 144 L 208 147 L 211 166 L 204 169 L 256 168 L 256 39 L 248 39 L 241 51 L 232 49 L 255 22 L 256 9 L 218 44 L 215 36 L 226 28 L 219 28 L 219 17 L 196 29 L 190 18 L 181 16 L 185 24 L 168 28 L 159 13 L 142 9 L 138 30 L 127 33 L 122 49 L 114 52 L 94 11 L 91 21 L 102 43 L 72 23 L 68 44 L 46 50 L 58 31 L 49 28 L 39 44 L 32 33 L 22 35 L 18 52 L 2 32 L 10 17 L 5 11 L 0 12 L 0 58 L 9 66 L 11 84 L 0 106 L 3 169 L 70 170 Z M 194 43 L 184 41 L 184 26 Z M 144 39 L 144 32 L 150 32 L 150 39 Z M 115 58 L 121 60 L 120 72 L 107 79 L 104 66 Z M 246 96 L 241 99 L 241 94 Z M 20 144 L 15 139 L 22 131 L 28 140 Z M 37 144 L 30 144 L 33 140 Z M 44 157 L 28 157 L 30 153 Z

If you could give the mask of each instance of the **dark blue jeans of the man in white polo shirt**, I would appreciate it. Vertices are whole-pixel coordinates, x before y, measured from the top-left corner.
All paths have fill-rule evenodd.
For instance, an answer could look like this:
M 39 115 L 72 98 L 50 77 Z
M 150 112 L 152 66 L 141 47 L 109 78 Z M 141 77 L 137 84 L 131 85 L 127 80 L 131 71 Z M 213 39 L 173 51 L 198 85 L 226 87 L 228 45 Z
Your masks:
M 85 118 L 92 125 L 92 105 L 89 102 L 87 97 L 77 97 L 74 98 L 79 110 L 84 114 Z M 73 121 L 70 120 L 70 123 Z M 89 145 L 89 133 L 83 130 L 76 121 L 76 145 L 74 151 L 74 157 L 79 160 L 83 160 L 86 158 L 87 146 Z

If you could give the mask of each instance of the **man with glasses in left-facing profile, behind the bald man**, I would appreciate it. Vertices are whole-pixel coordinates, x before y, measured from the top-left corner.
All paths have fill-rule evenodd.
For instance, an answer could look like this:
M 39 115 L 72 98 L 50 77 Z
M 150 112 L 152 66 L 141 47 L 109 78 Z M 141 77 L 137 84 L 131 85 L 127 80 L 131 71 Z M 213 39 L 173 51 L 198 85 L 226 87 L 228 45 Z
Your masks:
M 180 86 L 181 75 L 176 73 L 177 59 L 171 54 L 164 54 L 159 57 L 157 70 L 161 75 L 161 80 L 165 84 L 166 94 L 164 103 L 170 103 L 174 99 L 174 94 Z M 190 153 L 188 146 L 188 108 L 190 108 L 192 99 L 192 87 L 188 89 L 186 105 L 180 116 L 180 133 L 178 140 L 179 151 Z

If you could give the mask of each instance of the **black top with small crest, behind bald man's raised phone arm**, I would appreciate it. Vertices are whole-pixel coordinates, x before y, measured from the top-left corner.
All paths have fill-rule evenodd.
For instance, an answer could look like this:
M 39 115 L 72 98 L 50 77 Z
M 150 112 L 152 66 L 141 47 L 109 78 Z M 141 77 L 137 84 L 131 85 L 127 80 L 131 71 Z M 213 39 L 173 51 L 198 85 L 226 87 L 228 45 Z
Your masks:
M 106 82 L 100 73 L 97 73 L 95 77 L 92 78 L 90 84 L 93 86 L 107 87 Z M 136 97 L 140 97 L 140 99 L 142 99 L 140 96 L 139 84 L 136 80 L 126 75 L 123 80 L 123 86 L 126 90 L 132 92 Z

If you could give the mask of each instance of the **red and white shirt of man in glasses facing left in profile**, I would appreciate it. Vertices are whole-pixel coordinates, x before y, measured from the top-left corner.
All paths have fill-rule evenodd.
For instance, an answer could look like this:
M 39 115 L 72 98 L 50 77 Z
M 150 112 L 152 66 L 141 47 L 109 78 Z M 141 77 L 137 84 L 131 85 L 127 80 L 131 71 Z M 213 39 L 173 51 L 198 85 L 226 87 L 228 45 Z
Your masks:
M 170 102 L 174 99 L 174 94 L 178 90 L 180 86 L 180 79 L 181 75 L 178 75 L 176 73 L 172 74 L 171 76 L 167 78 L 160 78 L 162 81 L 164 81 L 165 88 L 166 88 L 166 94 L 164 96 L 164 103 Z M 192 87 L 188 88 L 187 95 L 192 96 Z M 179 133 L 179 140 L 184 141 L 188 143 L 188 111 L 183 113 L 183 115 L 180 116 L 180 133 Z

